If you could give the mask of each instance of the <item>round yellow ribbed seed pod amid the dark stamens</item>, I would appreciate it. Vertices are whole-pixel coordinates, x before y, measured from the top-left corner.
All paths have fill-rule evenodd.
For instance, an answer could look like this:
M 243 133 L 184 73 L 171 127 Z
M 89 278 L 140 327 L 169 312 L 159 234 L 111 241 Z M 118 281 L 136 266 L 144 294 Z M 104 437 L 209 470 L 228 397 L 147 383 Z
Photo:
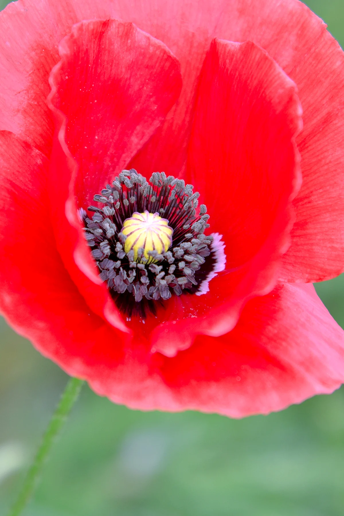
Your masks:
M 148 253 L 156 251 L 158 254 L 166 252 L 172 245 L 173 229 L 167 219 L 162 219 L 158 213 L 133 213 L 129 219 L 125 219 L 121 233 L 127 238 L 124 243 L 124 251 L 134 251 L 134 260 L 141 260 L 138 250 L 142 249 L 144 256 L 150 262 L 156 262 Z

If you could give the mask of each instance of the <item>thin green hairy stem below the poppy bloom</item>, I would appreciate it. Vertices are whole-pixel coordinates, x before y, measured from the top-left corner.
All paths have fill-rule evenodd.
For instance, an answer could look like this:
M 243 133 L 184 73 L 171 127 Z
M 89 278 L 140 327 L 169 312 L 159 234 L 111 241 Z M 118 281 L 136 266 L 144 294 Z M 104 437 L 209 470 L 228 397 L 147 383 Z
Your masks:
M 8 516 L 19 516 L 23 509 L 25 509 L 26 504 L 29 502 L 38 484 L 44 462 L 46 461 L 58 433 L 63 427 L 68 414 L 79 396 L 83 383 L 83 380 L 78 380 L 77 378 L 71 378 L 68 381 L 59 404 L 57 405 L 50 423 L 43 434 L 34 462 L 32 462 L 24 480 L 24 485 L 17 497 L 17 500 L 9 511 Z

